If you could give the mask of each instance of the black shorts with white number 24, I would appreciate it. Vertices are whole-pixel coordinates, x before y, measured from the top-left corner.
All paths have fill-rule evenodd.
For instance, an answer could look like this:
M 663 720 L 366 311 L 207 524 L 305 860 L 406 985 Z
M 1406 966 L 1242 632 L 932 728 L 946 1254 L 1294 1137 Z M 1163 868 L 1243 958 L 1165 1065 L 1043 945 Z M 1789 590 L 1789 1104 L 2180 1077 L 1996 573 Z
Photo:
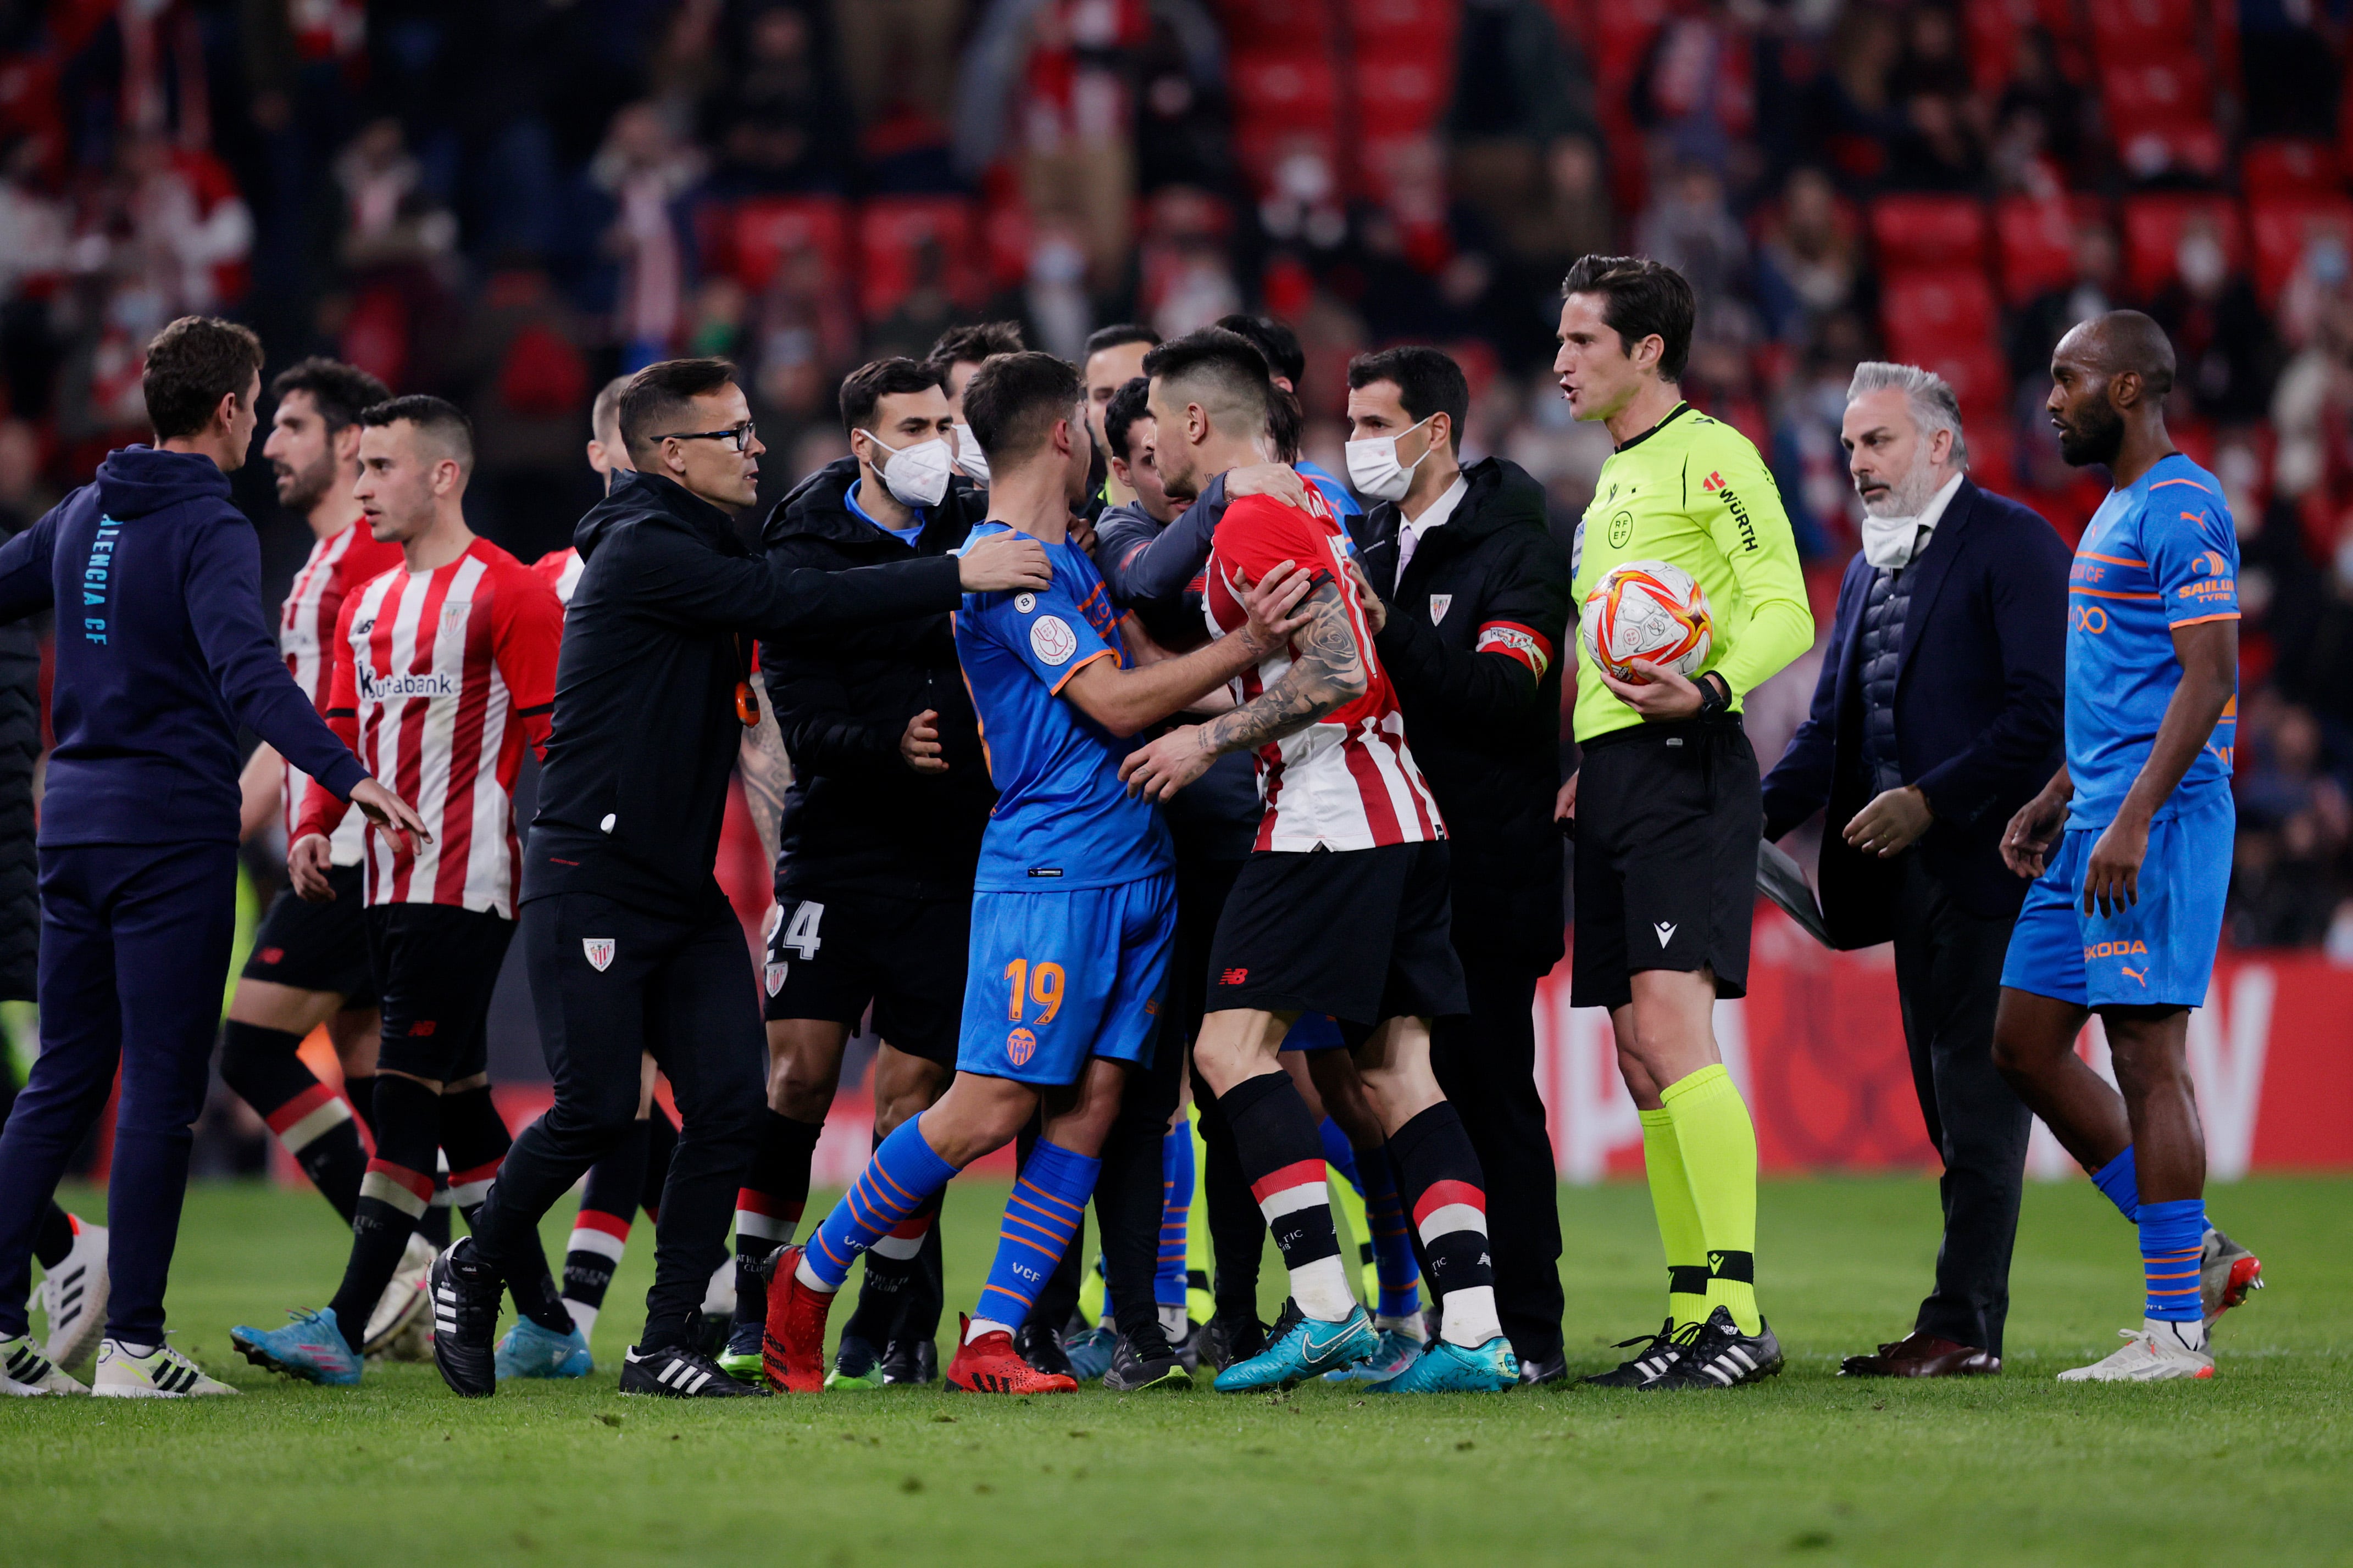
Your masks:
M 760 966 L 769 1023 L 826 1018 L 854 1030 L 873 1006 L 875 1034 L 892 1048 L 955 1067 L 969 898 L 795 891 L 776 903 Z

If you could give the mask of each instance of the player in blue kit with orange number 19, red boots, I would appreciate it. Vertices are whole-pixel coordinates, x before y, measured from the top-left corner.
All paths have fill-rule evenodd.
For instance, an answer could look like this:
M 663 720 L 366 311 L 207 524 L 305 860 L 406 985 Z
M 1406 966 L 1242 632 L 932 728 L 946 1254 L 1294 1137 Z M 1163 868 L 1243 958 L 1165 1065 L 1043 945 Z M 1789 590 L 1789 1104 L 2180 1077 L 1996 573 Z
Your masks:
M 1087 487 L 1078 371 L 1052 355 L 1000 355 L 965 393 L 995 484 L 974 543 L 1040 541 L 1054 581 L 1035 592 L 972 592 L 955 646 L 1000 797 L 981 837 L 955 1079 L 882 1140 L 807 1248 L 779 1253 L 769 1286 L 767 1375 L 791 1392 L 824 1385 L 826 1312 L 852 1260 L 927 1204 L 951 1175 L 1045 1110 L 1045 1135 L 1007 1199 L 995 1265 L 948 1363 L 948 1387 L 1071 1392 L 1014 1349 L 1038 1286 L 1061 1260 L 1094 1190 L 1096 1150 L 1129 1065 L 1148 1063 L 1176 931 L 1169 835 L 1118 778 L 1132 736 L 1282 646 L 1297 625 L 1297 574 L 1268 562 L 1235 588 L 1238 637 L 1129 668 L 1094 562 L 1068 543 Z M 1158 1324 L 1151 1324 L 1158 1333 Z M 1153 1382 L 1181 1382 L 1167 1342 Z

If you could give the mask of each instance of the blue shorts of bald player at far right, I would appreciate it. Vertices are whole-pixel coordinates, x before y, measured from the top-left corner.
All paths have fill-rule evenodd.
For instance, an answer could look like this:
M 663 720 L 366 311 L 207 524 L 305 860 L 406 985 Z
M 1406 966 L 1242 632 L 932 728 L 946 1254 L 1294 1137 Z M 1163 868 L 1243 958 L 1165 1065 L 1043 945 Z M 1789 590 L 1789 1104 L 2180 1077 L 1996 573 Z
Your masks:
M 2082 867 L 2101 827 L 2068 827 L 2049 867 L 2026 889 L 2002 985 L 2075 1006 L 2205 1006 L 2231 891 L 2238 806 L 2228 792 L 2148 827 L 2139 903 L 2082 912 Z

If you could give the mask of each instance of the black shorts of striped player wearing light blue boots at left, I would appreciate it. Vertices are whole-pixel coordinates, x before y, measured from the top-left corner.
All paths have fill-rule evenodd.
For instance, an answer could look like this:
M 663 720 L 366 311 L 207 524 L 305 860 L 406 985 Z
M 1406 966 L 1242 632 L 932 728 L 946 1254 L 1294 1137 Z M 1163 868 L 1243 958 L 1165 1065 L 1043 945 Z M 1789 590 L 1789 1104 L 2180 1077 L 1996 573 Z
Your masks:
M 489 1067 L 489 992 L 515 938 L 494 910 L 379 903 L 367 950 L 384 976 L 384 1048 L 376 1065 L 454 1084 Z

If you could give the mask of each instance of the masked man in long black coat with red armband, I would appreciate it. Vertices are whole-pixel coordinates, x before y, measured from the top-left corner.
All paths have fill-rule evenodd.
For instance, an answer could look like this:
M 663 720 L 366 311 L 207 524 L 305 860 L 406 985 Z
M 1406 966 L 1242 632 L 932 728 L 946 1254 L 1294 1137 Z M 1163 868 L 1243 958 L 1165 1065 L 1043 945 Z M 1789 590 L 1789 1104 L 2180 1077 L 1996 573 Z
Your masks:
M 1348 364 L 1358 564 L 1386 602 L 1374 651 L 1447 818 L 1466 1018 L 1431 1025 L 1431 1065 L 1487 1173 L 1494 1305 L 1520 1382 L 1567 1375 L 1560 1208 L 1537 1095 L 1537 980 L 1560 961 L 1560 637 L 1569 557 L 1544 487 L 1515 463 L 1461 465 L 1471 386 L 1435 348 Z

